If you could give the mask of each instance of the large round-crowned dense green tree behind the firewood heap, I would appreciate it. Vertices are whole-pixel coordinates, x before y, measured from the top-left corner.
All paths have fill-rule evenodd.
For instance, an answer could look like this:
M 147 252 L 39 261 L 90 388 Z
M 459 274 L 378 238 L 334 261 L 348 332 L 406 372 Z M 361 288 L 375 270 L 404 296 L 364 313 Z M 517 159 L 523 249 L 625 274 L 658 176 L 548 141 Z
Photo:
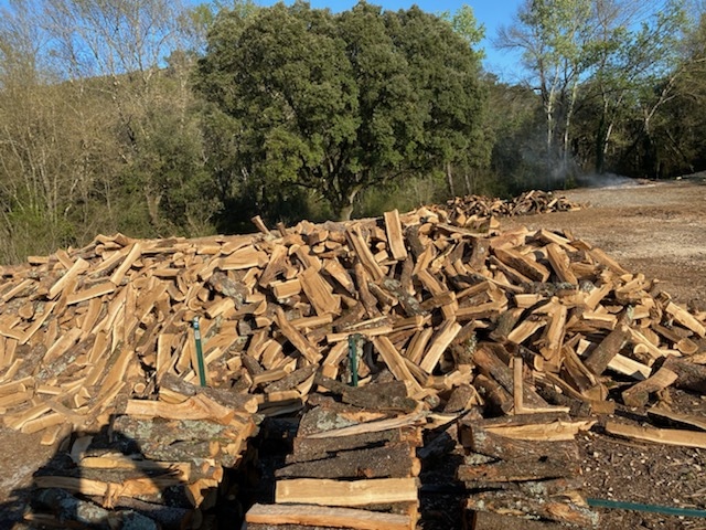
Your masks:
M 314 190 L 341 219 L 365 189 L 471 157 L 485 100 L 451 23 L 365 2 L 222 12 L 197 86 L 243 125 L 233 174 Z

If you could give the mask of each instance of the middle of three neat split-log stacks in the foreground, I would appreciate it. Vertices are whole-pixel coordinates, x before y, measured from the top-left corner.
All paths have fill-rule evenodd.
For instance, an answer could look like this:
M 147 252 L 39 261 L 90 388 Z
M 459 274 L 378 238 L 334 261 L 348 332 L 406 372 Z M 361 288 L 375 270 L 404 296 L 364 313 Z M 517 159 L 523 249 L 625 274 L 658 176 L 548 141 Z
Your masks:
M 416 449 L 424 415 L 406 385 L 320 382 L 343 402 L 310 396 L 315 405 L 303 414 L 293 451 L 275 474 L 276 504 L 254 506 L 246 513 L 248 528 L 413 530 L 419 518 Z

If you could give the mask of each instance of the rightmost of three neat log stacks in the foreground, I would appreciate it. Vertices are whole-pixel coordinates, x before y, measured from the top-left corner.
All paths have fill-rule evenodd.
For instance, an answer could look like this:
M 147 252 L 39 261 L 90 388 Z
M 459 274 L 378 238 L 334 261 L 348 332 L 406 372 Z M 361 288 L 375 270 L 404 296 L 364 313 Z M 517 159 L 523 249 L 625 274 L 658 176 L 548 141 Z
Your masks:
M 598 515 L 580 494 L 584 481 L 575 441 L 578 431 L 593 423 L 564 413 L 462 422 L 461 439 L 469 453 L 458 479 L 469 492 L 469 528 L 489 528 L 488 513 L 503 516 L 507 528 L 525 528 L 530 520 L 537 521 L 536 528 L 598 528 Z

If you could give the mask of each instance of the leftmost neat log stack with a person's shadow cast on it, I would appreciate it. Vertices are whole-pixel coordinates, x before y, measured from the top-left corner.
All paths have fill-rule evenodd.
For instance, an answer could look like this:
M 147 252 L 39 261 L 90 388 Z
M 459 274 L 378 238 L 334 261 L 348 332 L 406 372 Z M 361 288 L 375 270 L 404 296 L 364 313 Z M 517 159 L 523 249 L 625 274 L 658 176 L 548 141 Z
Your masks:
M 129 400 L 106 435 L 73 443 L 34 478 L 32 521 L 104 527 L 199 528 L 257 427 L 254 396 L 200 389 L 165 374 L 160 398 Z M 94 438 L 97 443 L 94 443 Z M 88 515 L 88 516 L 86 516 Z M 88 518 L 88 519 L 87 519 Z M 127 528 L 127 527 L 126 527 Z

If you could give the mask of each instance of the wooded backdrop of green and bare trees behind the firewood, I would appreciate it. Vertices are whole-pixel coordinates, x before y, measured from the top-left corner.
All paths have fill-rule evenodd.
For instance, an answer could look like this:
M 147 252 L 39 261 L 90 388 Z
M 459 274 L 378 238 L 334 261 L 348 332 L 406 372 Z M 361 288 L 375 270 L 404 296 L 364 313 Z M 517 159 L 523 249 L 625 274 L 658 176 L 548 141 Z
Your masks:
M 0 263 L 96 234 L 203 236 L 706 169 L 698 2 L 526 0 L 482 67 L 472 9 L 10 0 Z

